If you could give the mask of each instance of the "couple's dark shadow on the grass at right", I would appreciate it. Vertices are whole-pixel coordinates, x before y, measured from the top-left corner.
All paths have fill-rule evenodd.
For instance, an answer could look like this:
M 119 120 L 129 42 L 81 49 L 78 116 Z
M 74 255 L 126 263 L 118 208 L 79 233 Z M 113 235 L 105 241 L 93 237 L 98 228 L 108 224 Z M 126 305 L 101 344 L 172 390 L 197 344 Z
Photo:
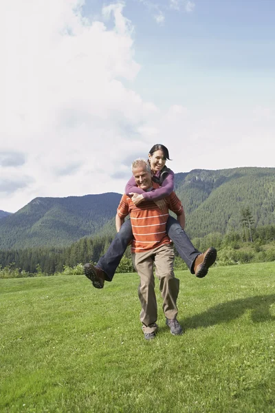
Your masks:
M 270 313 L 270 306 L 274 302 L 274 294 L 236 299 L 208 308 L 203 313 L 181 319 L 181 324 L 184 326 L 184 330 L 214 326 L 241 317 L 247 310 L 251 310 L 251 319 L 254 323 L 275 320 L 275 317 Z

